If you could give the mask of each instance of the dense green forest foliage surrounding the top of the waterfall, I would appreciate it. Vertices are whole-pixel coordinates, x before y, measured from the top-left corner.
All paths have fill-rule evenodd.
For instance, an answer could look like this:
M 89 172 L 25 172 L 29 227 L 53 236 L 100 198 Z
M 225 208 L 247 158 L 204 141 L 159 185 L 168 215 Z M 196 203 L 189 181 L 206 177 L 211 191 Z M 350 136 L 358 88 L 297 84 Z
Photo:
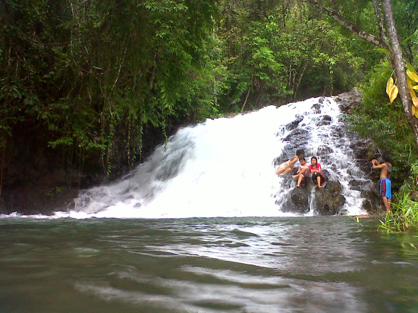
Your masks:
M 417 0 L 3 0 L 0 26 L 0 195 L 25 167 L 113 179 L 178 126 L 354 86 L 347 120 L 397 181 L 418 156 Z

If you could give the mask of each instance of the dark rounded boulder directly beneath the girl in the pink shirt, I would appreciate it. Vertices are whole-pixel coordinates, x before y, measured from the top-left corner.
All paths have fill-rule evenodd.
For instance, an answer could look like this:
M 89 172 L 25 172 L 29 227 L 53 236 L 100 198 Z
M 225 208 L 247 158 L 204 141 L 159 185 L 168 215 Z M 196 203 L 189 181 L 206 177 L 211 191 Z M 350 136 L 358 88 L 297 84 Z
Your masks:
M 329 181 L 324 188 L 315 190 L 316 212 L 320 215 L 334 215 L 339 212 L 345 203 L 339 182 Z

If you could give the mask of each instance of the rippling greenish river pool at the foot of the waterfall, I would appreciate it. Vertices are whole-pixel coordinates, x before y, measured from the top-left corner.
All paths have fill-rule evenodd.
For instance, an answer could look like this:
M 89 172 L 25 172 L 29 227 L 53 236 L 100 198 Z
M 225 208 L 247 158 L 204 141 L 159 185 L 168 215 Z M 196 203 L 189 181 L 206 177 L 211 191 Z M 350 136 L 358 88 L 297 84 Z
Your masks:
M 377 220 L 0 219 L 0 312 L 417 312 L 416 234 Z

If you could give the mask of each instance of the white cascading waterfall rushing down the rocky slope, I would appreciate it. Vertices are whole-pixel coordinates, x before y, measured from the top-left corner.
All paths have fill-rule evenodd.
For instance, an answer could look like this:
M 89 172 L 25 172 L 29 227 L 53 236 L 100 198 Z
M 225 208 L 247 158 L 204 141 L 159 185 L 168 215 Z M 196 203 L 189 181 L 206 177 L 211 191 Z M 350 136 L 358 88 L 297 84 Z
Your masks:
M 321 103 L 320 103 L 321 102 Z M 345 203 L 340 212 L 366 213 L 353 178 L 370 189 L 344 135 L 342 114 L 333 98 L 311 98 L 268 106 L 233 118 L 208 119 L 177 131 L 166 145 L 118 182 L 84 190 L 74 210 L 56 216 L 84 217 L 242 217 L 295 215 L 282 212 L 295 188 L 278 164 L 305 149 L 317 156 L 331 181 L 339 181 Z M 308 184 L 315 214 L 315 190 Z

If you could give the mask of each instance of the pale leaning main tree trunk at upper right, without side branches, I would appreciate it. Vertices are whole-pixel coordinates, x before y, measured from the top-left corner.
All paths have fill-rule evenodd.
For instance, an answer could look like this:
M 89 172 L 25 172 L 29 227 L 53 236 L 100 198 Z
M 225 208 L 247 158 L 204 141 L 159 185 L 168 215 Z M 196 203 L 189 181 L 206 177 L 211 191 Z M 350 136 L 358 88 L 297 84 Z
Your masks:
M 415 145 L 418 148 L 418 119 L 412 115 L 412 101 L 409 95 L 409 88 L 403 64 L 402 50 L 399 45 L 398 33 L 393 19 L 392 4 L 390 0 L 382 0 L 382 8 L 385 13 L 385 22 L 389 34 L 390 45 L 392 46 L 393 63 L 395 66 L 396 77 L 398 78 L 399 96 L 402 101 L 403 111 L 415 135 Z

